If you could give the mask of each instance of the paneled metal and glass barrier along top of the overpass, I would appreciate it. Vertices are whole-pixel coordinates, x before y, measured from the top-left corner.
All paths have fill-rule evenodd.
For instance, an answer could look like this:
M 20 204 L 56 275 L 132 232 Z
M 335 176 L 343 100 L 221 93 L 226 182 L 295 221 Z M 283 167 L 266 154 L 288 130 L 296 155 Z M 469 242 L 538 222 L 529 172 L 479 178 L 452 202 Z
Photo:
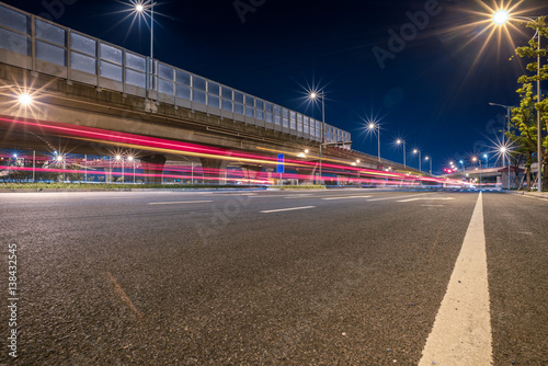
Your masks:
M 352 141 L 321 121 L 1 2 L 0 62 L 312 141 Z

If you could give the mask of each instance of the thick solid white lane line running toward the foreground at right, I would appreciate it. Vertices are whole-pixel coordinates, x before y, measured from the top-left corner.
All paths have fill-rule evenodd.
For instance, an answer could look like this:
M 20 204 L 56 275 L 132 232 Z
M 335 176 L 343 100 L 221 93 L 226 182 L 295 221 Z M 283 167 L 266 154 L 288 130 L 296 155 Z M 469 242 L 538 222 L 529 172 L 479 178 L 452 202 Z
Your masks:
M 492 365 L 489 283 L 480 193 L 419 366 Z

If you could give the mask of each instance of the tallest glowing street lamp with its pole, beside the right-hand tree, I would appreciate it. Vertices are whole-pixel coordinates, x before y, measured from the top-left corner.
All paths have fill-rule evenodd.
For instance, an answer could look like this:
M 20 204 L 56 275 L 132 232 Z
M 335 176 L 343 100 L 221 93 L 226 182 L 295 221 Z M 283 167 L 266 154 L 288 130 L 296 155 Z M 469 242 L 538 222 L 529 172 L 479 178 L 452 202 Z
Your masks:
M 511 20 L 525 20 L 528 22 L 535 23 L 543 16 L 537 16 L 537 18 L 528 18 L 528 16 L 522 16 L 522 15 L 512 15 L 510 14 L 509 11 L 506 10 L 499 10 L 493 14 L 493 22 L 500 26 L 506 24 Z M 540 28 L 537 27 L 535 35 L 533 38 L 538 38 L 537 39 L 537 45 L 538 45 L 538 55 L 537 55 L 537 103 L 541 102 L 543 99 L 543 92 L 540 89 L 540 41 L 541 41 L 541 33 Z M 537 108 L 537 131 L 538 131 L 538 138 L 537 138 L 537 158 L 538 158 L 538 168 L 537 168 L 537 176 L 538 176 L 538 192 L 543 192 L 543 139 L 541 137 L 541 123 L 540 123 L 540 110 Z M 509 162 L 510 164 L 510 162 Z M 509 176 L 510 181 L 510 176 Z M 509 183 L 510 184 L 510 183 Z

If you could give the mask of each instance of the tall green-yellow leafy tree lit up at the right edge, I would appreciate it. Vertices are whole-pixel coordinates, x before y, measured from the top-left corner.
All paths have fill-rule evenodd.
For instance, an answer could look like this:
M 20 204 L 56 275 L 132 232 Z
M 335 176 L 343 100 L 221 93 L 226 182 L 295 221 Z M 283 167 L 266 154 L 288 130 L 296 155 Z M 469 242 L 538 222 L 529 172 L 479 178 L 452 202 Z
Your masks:
M 538 96 L 533 94 L 533 85 L 538 80 L 548 80 L 548 26 L 546 24 L 546 16 L 538 18 L 527 23 L 527 27 L 535 30 L 540 35 L 540 47 L 538 45 L 538 37 L 534 37 L 528 42 L 527 46 L 517 47 L 516 55 L 523 59 L 533 59 L 526 67 L 527 73 L 522 76 L 517 82 L 522 88 L 517 90 L 521 98 L 520 107 L 514 108 L 512 122 L 520 130 L 520 136 L 509 137 L 514 138 L 518 145 L 520 152 L 528 157 L 528 163 L 537 153 L 538 138 L 541 141 L 543 163 L 540 167 L 543 173 L 543 191 L 548 191 L 548 137 L 544 136 L 543 131 L 548 130 L 548 100 L 546 95 L 541 95 L 540 101 Z M 543 48 L 544 46 L 544 48 Z M 537 73 L 538 62 L 537 58 L 540 57 L 540 72 Z M 540 112 L 540 130 L 537 127 L 537 111 Z M 529 165 L 530 168 L 530 165 Z

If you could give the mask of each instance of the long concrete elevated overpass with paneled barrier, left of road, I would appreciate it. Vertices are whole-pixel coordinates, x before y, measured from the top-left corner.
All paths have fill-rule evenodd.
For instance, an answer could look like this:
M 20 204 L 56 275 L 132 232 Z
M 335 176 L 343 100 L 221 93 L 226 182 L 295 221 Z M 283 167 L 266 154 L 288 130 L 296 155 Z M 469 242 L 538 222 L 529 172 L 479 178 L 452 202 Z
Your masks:
M 138 55 L 0 2 L 0 148 L 112 155 L 112 138 L 66 136 L 59 126 L 205 146 L 216 155 L 137 146 L 148 172 L 167 160 L 221 171 L 229 163 L 249 172 L 276 165 L 282 151 L 295 159 L 339 159 L 364 169 L 416 170 L 351 150 L 351 134 L 219 82 Z M 23 107 L 19 95 L 33 103 Z M 26 124 L 25 124 L 26 123 Z M 52 127 L 54 126 L 54 127 Z M 50 129 L 50 127 L 53 129 Z M 125 135 L 124 135 L 125 136 Z M 135 146 L 133 146 L 135 148 Z M 305 149 L 310 152 L 302 157 Z M 238 152 L 238 153 L 235 153 Z M 238 159 L 267 155 L 272 164 Z M 356 163 L 356 161 L 358 161 Z M 153 174 L 151 174 L 153 175 Z

